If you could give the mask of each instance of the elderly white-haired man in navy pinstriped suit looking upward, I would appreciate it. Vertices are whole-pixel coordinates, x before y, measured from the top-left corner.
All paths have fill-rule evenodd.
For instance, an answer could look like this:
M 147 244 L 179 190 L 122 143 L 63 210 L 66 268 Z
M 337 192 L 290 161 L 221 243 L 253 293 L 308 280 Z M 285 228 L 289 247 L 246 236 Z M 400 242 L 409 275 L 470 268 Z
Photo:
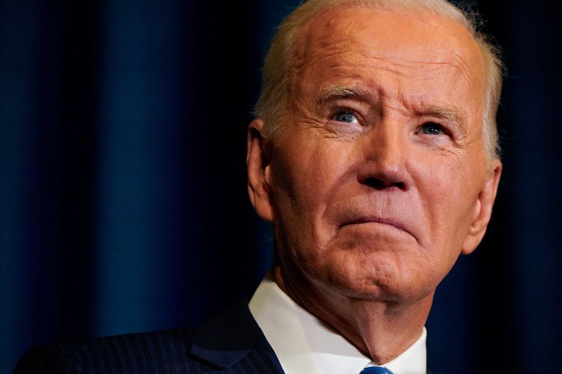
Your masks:
M 500 86 L 493 48 L 446 1 L 302 4 L 248 131 L 249 196 L 275 239 L 249 308 L 44 347 L 18 373 L 425 373 L 436 286 L 490 220 Z

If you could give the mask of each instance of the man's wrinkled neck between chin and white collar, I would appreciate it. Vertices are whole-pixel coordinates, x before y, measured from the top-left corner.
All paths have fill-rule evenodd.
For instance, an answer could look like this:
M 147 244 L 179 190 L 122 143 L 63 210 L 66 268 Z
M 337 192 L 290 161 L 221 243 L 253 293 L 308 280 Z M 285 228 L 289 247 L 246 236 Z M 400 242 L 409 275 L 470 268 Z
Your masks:
M 404 304 L 348 298 L 333 290 L 320 290 L 305 279 L 288 281 L 278 266 L 273 268 L 273 276 L 290 298 L 332 326 L 377 364 L 396 358 L 420 337 L 433 301 L 433 293 L 418 302 Z

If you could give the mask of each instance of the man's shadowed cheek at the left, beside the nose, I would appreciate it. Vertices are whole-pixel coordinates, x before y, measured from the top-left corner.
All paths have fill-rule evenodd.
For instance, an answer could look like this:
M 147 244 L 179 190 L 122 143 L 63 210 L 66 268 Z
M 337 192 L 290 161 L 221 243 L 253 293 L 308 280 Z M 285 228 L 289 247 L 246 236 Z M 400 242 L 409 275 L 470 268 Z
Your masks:
M 314 255 L 331 238 L 325 213 L 349 175 L 348 149 L 325 139 L 299 142 L 278 152 L 272 163 L 275 226 L 284 246 Z

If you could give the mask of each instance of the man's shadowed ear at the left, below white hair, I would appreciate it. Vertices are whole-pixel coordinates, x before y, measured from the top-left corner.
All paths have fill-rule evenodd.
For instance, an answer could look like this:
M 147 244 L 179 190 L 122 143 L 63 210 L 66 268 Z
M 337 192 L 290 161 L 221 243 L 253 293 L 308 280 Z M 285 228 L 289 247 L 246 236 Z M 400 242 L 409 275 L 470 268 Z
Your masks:
M 256 213 L 268 222 L 273 222 L 273 206 L 270 202 L 270 167 L 269 154 L 265 140 L 261 135 L 263 120 L 254 119 L 248 126 L 248 194 Z

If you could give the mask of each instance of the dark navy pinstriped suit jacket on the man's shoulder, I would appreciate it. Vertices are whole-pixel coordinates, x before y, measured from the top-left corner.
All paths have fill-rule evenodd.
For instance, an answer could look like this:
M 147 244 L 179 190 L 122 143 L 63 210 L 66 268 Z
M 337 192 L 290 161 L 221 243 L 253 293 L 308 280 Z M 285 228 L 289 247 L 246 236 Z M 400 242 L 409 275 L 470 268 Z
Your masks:
M 190 329 L 117 335 L 37 347 L 15 374 L 283 373 L 261 329 L 241 301 Z

